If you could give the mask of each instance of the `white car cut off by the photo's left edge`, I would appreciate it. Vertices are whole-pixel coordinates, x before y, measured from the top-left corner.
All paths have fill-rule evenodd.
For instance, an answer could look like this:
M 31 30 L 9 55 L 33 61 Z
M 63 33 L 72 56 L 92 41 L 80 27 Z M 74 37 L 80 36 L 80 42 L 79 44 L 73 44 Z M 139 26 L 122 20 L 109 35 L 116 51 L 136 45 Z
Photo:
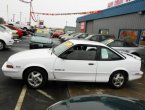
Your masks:
M 12 33 L 0 27 L 0 51 L 4 48 L 11 47 L 14 43 Z

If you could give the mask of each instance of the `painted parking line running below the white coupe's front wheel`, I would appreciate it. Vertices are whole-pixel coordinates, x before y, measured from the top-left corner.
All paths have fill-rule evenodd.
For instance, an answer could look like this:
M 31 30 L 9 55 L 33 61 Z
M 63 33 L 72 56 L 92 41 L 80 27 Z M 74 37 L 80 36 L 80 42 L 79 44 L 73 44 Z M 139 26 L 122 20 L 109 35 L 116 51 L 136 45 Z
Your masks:
M 21 94 L 19 96 L 19 99 L 17 101 L 15 110 L 21 110 L 21 107 L 22 107 L 22 104 L 23 104 L 23 101 L 24 101 L 24 98 L 25 98 L 26 91 L 27 91 L 27 87 L 24 85 L 23 89 L 21 91 Z

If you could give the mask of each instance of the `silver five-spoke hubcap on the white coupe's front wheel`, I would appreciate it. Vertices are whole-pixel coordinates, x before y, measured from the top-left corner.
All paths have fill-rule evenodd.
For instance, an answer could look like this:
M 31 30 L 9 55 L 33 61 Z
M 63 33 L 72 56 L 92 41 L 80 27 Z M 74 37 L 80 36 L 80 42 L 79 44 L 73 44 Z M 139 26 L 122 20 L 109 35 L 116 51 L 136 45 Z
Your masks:
M 28 83 L 33 87 L 38 87 L 42 84 L 43 76 L 38 71 L 33 71 L 28 75 Z

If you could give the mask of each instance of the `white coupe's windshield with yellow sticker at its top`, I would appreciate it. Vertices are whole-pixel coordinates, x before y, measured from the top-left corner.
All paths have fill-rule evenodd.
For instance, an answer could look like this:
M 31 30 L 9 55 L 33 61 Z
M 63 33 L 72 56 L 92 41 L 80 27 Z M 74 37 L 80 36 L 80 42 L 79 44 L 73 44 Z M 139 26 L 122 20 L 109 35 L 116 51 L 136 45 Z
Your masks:
M 52 52 L 56 55 L 59 56 L 61 53 L 63 53 L 64 51 L 66 51 L 67 49 L 71 48 L 73 46 L 73 43 L 70 41 L 64 42 L 60 45 L 58 45 L 57 47 L 55 47 L 54 49 L 52 49 Z

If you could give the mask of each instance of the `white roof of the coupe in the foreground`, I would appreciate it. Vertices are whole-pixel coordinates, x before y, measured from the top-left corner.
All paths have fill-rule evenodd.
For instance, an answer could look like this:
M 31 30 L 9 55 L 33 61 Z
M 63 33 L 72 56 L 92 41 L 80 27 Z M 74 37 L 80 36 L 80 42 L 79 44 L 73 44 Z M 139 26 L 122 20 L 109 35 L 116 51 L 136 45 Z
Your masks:
M 69 40 L 70 42 L 72 42 L 73 44 L 87 44 L 87 45 L 99 45 L 99 46 L 103 46 L 103 47 L 107 47 L 105 44 L 100 43 L 100 42 L 96 42 L 96 41 L 89 41 L 89 40 Z

